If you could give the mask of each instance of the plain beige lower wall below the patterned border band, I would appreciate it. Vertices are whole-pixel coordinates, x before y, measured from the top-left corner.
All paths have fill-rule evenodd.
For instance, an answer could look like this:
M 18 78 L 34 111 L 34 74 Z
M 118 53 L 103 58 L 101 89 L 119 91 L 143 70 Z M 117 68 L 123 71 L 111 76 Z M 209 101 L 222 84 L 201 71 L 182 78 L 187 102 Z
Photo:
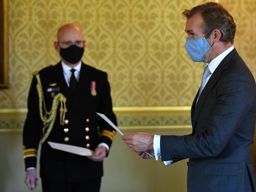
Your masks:
M 184 135 L 190 129 L 122 129 L 124 133 L 146 131 L 164 135 Z M 25 168 L 22 154 L 22 135 L 17 133 L 0 133 L 0 191 L 29 192 L 24 183 Z M 130 150 L 117 135 L 109 157 L 104 161 L 104 177 L 101 192 L 186 192 L 187 160 L 165 166 L 160 160 L 141 159 Z M 33 190 L 41 192 L 39 186 Z

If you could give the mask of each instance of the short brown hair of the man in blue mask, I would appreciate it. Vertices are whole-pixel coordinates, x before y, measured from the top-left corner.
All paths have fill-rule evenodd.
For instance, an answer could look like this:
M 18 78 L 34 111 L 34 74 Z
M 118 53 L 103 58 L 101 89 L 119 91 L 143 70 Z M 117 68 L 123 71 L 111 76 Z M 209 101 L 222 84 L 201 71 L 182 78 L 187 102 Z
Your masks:
M 234 43 L 236 23 L 228 11 L 219 3 L 205 2 L 191 9 L 184 9 L 182 15 L 187 19 L 201 13 L 204 20 L 204 33 L 218 29 L 221 31 L 220 41 Z

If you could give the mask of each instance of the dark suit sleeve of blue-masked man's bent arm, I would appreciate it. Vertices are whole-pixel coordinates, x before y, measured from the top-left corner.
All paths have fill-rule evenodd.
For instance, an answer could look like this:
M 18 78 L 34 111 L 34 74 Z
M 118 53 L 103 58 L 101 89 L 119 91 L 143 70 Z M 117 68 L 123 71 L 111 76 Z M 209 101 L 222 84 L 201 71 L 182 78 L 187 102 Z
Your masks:
M 219 80 L 213 110 L 209 111 L 210 118 L 204 131 L 195 135 L 161 136 L 162 161 L 218 156 L 236 133 L 255 104 L 252 94 L 255 83 L 235 72 Z M 203 105 L 202 109 L 204 107 L 207 109 L 208 106 Z

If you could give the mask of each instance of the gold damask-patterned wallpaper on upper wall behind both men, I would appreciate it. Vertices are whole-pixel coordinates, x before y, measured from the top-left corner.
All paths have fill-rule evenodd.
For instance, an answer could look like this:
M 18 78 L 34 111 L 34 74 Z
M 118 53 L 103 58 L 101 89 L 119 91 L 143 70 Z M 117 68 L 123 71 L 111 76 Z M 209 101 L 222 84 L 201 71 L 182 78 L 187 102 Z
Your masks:
M 83 61 L 108 72 L 113 105 L 189 106 L 204 64 L 186 53 L 181 13 L 203 0 L 9 0 L 9 89 L 0 108 L 25 108 L 32 72 L 59 61 L 59 26 L 82 27 Z M 237 24 L 235 47 L 256 74 L 256 1 L 223 0 Z

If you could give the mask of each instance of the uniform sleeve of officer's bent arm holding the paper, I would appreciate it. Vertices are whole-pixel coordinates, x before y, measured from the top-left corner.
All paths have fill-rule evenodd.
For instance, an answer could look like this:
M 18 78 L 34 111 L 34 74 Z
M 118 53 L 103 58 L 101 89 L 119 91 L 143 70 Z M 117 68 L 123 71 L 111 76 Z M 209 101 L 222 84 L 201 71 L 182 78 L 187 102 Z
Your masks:
M 104 73 L 104 79 L 103 79 L 103 90 L 102 95 L 100 97 L 100 105 L 99 105 L 99 113 L 105 114 L 113 124 L 117 126 L 117 119 L 115 114 L 112 110 L 112 100 L 110 95 L 110 86 L 108 82 L 108 76 L 106 73 Z M 109 148 L 113 142 L 113 139 L 115 137 L 115 129 L 113 129 L 106 121 L 104 121 L 102 118 L 98 117 L 98 124 L 99 124 L 99 130 L 100 130 L 100 138 L 99 143 L 104 142 L 106 143 Z

